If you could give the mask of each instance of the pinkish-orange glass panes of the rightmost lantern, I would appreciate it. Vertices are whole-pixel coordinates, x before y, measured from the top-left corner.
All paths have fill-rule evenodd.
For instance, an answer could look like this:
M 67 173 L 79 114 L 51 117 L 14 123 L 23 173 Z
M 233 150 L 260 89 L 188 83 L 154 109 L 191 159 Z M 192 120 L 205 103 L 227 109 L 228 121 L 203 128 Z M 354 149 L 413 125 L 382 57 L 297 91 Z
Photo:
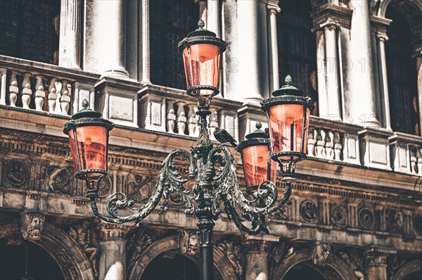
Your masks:
M 279 104 L 269 108 L 269 130 L 273 153 L 304 152 L 302 146 L 307 145 L 307 133 L 302 143 L 303 117 L 305 106 L 300 104 Z M 309 127 L 309 109 L 306 108 L 305 126 Z M 288 160 L 290 155 L 281 156 Z

